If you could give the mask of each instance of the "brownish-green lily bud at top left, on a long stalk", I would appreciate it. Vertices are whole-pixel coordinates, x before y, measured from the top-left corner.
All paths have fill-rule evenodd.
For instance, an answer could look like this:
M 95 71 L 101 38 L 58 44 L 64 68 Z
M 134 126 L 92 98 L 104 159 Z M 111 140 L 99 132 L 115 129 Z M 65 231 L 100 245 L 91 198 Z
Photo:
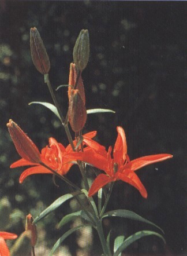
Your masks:
M 31 28 L 30 31 L 31 56 L 33 64 L 41 74 L 48 74 L 50 70 L 50 60 L 48 58 L 46 47 L 37 28 Z

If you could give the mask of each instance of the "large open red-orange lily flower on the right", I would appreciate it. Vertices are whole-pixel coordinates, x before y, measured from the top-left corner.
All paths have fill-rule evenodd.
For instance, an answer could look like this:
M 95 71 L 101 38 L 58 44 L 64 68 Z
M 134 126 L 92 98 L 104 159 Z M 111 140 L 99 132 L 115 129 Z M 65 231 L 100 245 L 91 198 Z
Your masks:
M 134 171 L 148 164 L 160 162 L 173 156 L 164 153 L 143 156 L 130 161 L 127 154 L 125 131 L 120 126 L 117 127 L 117 131 L 118 137 L 114 145 L 113 158 L 111 158 L 111 146 L 108 152 L 102 149 L 100 152 L 88 151 L 83 153 L 82 160 L 84 162 L 94 165 L 107 174 L 99 174 L 95 178 L 89 189 L 88 196 L 94 195 L 100 188 L 112 181 L 122 180 L 137 188 L 141 195 L 147 198 L 147 191 Z

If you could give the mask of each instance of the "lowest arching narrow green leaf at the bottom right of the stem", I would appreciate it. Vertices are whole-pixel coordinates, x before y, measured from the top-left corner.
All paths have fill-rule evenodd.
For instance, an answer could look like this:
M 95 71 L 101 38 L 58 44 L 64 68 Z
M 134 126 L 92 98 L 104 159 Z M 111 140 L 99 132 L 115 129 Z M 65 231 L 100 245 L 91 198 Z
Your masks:
M 159 233 L 154 232 L 154 231 L 139 231 L 134 233 L 132 236 L 129 236 L 125 241 L 119 246 L 118 250 L 114 253 L 114 256 L 118 256 L 122 251 L 124 251 L 130 244 L 135 242 L 136 240 L 139 240 L 141 237 L 144 236 L 151 236 L 155 235 L 158 236 L 160 239 L 163 240 L 164 243 L 166 243 L 165 239 L 163 236 L 161 236 Z

